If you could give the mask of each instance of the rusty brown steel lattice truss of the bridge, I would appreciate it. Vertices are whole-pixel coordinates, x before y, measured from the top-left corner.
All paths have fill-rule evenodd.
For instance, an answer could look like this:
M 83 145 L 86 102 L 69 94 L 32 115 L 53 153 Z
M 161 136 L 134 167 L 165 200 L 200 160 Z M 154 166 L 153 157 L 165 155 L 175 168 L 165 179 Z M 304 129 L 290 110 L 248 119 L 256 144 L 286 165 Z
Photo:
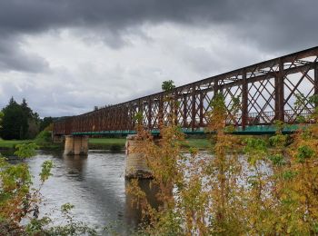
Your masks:
M 184 129 L 202 130 L 215 93 L 224 94 L 228 109 L 234 97 L 240 98 L 241 110 L 237 115 L 228 114 L 228 124 L 245 128 L 272 124 L 274 120 L 295 123 L 299 115 L 313 113 L 314 104 L 309 97 L 318 93 L 318 47 L 176 87 L 170 94 L 179 104 L 174 108 L 164 100 L 167 93 L 154 93 L 58 120 L 54 134 L 132 131 L 136 113 L 143 113 L 146 129 L 158 130 L 160 123 L 168 121 L 172 110 Z M 294 102 L 300 94 L 303 104 L 295 109 Z

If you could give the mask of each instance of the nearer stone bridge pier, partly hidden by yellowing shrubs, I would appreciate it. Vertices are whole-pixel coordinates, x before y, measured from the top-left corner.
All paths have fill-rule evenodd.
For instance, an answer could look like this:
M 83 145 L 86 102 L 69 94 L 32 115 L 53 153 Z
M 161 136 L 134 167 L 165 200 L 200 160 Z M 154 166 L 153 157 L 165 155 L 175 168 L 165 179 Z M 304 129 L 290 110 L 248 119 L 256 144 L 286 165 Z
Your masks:
M 126 139 L 126 179 L 151 179 L 153 177 L 144 154 L 138 152 L 140 141 L 135 139 L 135 135 L 128 135 Z

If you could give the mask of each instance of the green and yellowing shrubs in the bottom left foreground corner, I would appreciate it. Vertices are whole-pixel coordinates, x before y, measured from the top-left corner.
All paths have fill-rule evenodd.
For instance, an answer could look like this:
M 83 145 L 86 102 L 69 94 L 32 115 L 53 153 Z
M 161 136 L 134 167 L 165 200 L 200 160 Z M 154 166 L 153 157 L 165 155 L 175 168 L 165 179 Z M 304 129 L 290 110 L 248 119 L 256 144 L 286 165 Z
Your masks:
M 15 152 L 19 157 L 31 157 L 35 153 L 34 143 L 21 144 Z M 74 221 L 71 210 L 74 205 L 66 203 L 61 212 L 67 223 L 55 226 L 54 222 L 44 217 L 37 219 L 38 204 L 41 202 L 40 190 L 49 178 L 54 164 L 45 161 L 39 173 L 41 184 L 32 188 L 32 176 L 26 163 L 10 164 L 0 157 L 0 235 L 97 235 L 96 229 L 82 221 Z M 22 226 L 24 218 L 30 222 Z M 53 225 L 51 225 L 53 224 Z

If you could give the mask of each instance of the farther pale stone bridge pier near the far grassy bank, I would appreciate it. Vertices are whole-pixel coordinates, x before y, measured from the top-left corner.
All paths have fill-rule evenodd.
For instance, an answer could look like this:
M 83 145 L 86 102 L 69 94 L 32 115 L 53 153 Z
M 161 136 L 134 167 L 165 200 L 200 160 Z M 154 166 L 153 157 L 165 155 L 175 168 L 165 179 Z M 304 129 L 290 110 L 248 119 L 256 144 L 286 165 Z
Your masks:
M 87 136 L 65 136 L 66 155 L 87 155 L 88 137 Z

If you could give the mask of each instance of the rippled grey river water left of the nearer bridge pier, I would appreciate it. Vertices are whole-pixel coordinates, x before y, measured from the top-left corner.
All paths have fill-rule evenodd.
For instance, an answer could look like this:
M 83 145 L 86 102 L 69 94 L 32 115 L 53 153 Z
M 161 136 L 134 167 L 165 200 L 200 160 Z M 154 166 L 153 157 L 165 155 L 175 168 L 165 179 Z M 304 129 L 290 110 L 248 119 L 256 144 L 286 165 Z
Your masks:
M 4 153 L 11 156 L 10 153 Z M 60 207 L 66 202 L 75 205 L 72 211 L 75 221 L 84 221 L 99 227 L 114 227 L 121 235 L 129 235 L 141 220 L 140 211 L 131 205 L 131 198 L 125 193 L 129 182 L 124 179 L 124 152 L 90 151 L 88 156 L 65 156 L 62 152 L 39 151 L 36 156 L 25 160 L 39 183 L 41 164 L 51 160 L 55 164 L 52 173 L 41 189 L 44 202 L 40 216 L 48 214 L 55 223 L 63 223 Z M 20 162 L 11 156 L 10 162 Z M 154 198 L 149 182 L 140 183 Z

